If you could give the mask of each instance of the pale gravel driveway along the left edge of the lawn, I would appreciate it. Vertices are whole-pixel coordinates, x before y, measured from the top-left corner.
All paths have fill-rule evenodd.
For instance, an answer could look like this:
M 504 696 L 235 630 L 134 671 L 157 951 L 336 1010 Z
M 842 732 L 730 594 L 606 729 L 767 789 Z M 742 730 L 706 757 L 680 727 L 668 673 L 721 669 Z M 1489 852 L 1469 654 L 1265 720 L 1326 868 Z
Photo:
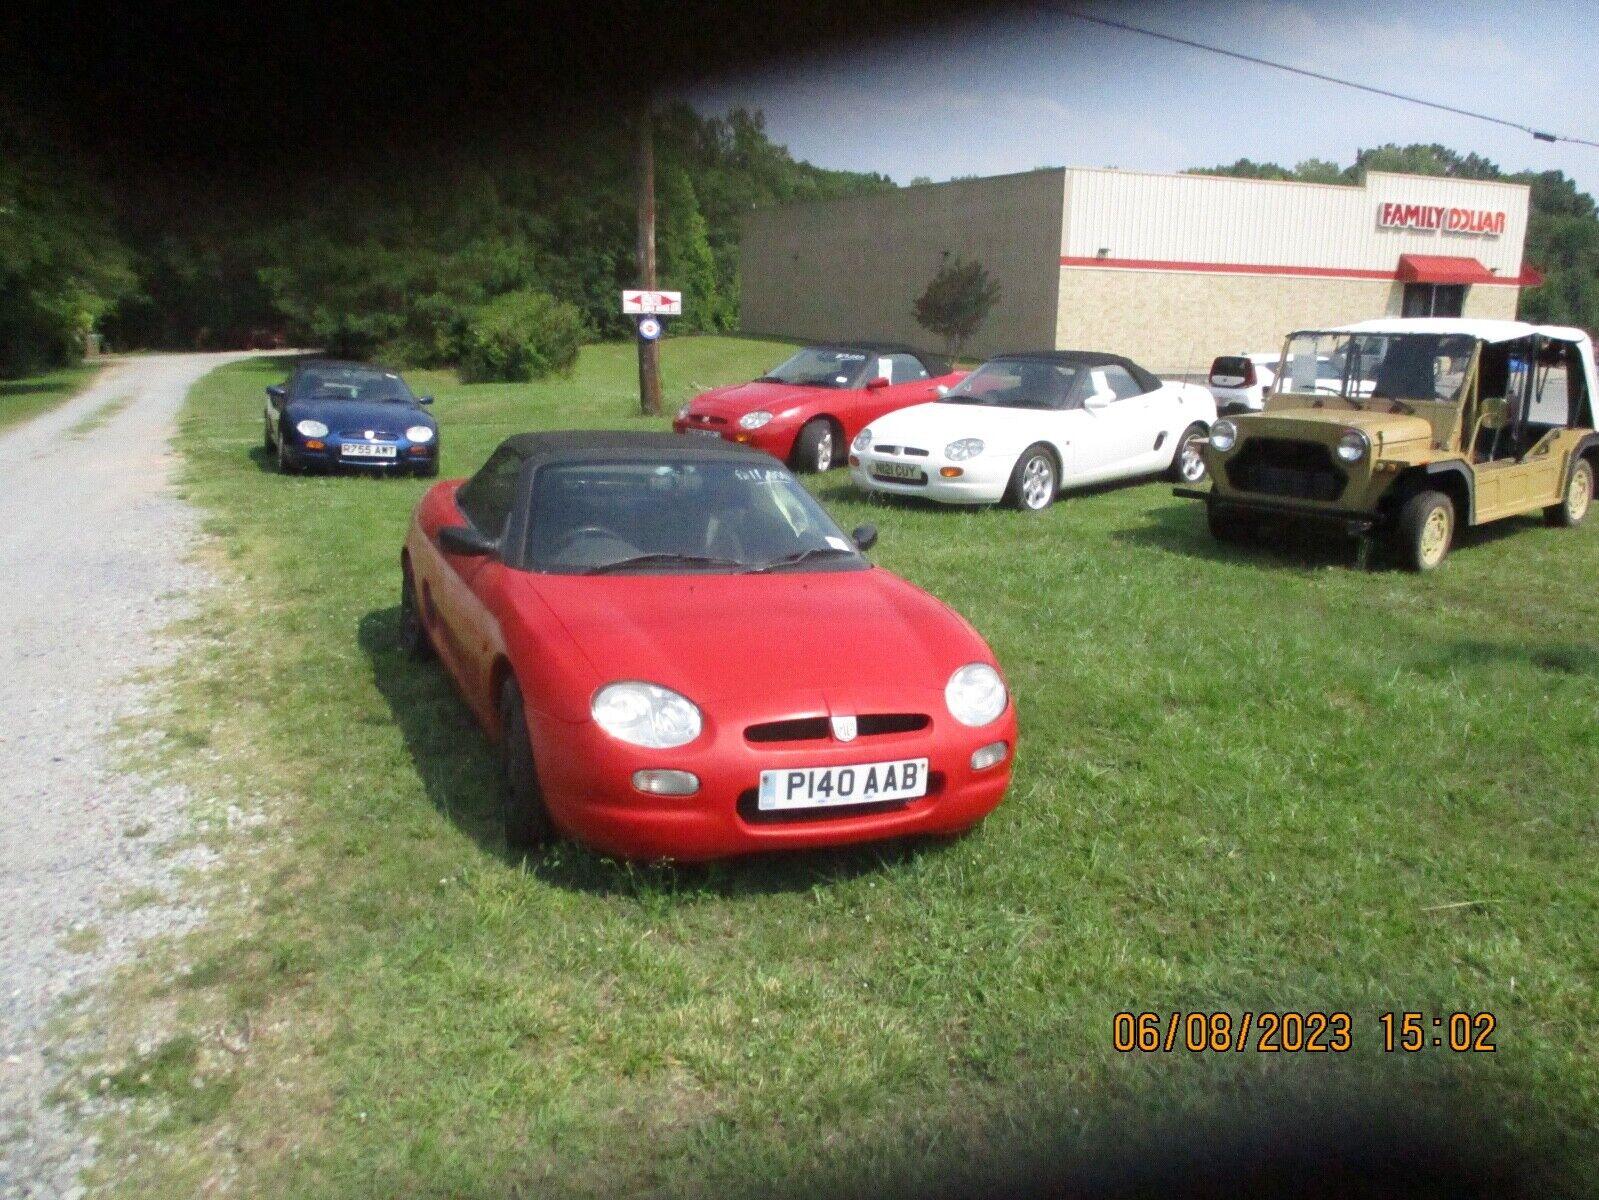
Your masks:
M 190 384 L 249 355 L 128 358 L 85 394 L 0 435 L 0 1197 L 77 1195 L 91 1155 L 51 1107 L 43 1024 L 139 941 L 189 925 L 157 858 L 184 797 L 120 774 L 114 722 L 130 675 L 206 581 L 192 510 L 169 494 L 174 416 Z

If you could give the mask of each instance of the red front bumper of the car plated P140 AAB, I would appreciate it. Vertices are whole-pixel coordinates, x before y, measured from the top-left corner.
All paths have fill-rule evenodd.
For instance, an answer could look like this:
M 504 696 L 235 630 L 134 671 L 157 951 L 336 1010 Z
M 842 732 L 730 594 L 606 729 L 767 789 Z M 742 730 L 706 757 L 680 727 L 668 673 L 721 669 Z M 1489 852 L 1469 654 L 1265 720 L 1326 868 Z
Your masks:
M 534 758 L 555 824 L 606 853 L 636 859 L 705 861 L 769 850 L 839 846 L 892 837 L 955 834 L 985 818 L 1004 797 L 1015 757 L 1015 704 L 980 730 L 971 730 L 921 701 L 932 715 L 913 733 L 862 734 L 795 742 L 750 742 L 745 720 L 721 720 L 676 750 L 627 746 L 595 723 L 534 718 Z M 895 709 L 897 710 L 897 709 Z M 907 709 L 910 710 L 910 709 Z M 825 715 L 825 706 L 804 715 Z M 942 714 L 942 715 L 940 715 Z M 760 720 L 771 720 L 763 714 Z M 788 720 L 780 717 L 779 720 Z M 752 722 L 753 723 L 753 722 Z M 982 771 L 972 752 L 990 742 L 1009 747 L 1001 763 Z M 915 800 L 852 808 L 760 811 L 761 771 L 855 766 L 927 758 L 927 794 Z M 696 795 L 646 795 L 633 787 L 640 770 L 692 771 Z

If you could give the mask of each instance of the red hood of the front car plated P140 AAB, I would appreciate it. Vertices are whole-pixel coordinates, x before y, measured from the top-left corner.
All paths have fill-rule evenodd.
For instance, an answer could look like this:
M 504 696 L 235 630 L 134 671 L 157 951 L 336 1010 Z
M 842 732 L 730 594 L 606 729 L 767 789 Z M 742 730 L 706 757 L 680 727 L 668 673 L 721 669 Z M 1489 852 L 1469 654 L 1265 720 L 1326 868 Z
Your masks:
M 963 618 L 881 568 L 516 584 L 561 622 L 596 686 L 646 680 L 699 702 L 761 696 L 847 712 L 871 710 L 886 685 L 942 693 L 956 667 L 993 662 Z

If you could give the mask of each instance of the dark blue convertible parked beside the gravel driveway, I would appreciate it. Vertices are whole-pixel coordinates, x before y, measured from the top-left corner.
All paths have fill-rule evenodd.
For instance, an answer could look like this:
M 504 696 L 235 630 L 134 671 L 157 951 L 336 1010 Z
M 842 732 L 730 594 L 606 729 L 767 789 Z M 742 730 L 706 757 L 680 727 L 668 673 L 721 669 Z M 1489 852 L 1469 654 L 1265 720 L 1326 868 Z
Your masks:
M 310 360 L 267 389 L 264 446 L 278 470 L 310 466 L 438 474 L 438 422 L 395 371 Z

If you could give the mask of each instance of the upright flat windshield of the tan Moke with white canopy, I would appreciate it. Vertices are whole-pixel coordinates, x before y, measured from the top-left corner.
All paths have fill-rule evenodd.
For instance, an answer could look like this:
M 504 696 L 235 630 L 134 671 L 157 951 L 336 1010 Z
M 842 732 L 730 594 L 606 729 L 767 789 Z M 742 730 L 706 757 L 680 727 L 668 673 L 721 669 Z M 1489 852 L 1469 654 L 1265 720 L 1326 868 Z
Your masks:
M 1297 333 L 1276 390 L 1452 403 L 1474 349 L 1476 339 L 1458 333 Z

